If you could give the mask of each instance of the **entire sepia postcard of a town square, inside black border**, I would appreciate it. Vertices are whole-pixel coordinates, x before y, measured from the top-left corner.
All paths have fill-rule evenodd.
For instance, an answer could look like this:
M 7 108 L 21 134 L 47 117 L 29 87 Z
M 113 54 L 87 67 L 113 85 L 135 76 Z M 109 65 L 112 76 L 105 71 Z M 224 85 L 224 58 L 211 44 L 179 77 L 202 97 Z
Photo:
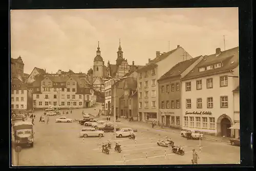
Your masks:
M 238 18 L 11 10 L 12 165 L 240 163 Z

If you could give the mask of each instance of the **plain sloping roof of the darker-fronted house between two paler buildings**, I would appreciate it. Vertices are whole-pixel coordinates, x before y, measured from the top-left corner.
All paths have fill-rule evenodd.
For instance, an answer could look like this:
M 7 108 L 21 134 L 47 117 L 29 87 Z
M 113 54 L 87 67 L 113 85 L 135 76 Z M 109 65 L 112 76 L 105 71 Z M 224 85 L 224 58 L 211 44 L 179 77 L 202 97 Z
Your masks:
M 184 60 L 182 62 L 177 63 L 177 65 L 175 65 L 173 68 L 171 68 L 168 72 L 166 72 L 158 80 L 163 80 L 163 79 L 170 78 L 170 77 L 180 76 L 189 66 L 191 66 L 200 57 L 202 57 L 202 56 L 198 56 L 198 57 Z

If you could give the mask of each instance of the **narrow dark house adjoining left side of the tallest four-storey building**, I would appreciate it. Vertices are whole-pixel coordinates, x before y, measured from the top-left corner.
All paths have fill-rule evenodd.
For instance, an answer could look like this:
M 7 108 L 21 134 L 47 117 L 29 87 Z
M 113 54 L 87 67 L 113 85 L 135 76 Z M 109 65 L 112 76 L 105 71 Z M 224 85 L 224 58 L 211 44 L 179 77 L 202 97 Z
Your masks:
M 138 117 L 137 78 L 129 77 L 124 80 L 123 95 L 119 98 L 121 117 Z

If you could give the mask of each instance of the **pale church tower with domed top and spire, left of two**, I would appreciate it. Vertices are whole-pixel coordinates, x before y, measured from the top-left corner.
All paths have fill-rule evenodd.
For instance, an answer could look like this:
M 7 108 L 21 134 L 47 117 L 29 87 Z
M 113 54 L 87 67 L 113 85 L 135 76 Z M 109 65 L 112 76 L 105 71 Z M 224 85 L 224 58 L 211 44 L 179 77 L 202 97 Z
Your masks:
M 101 77 L 103 78 L 104 72 L 103 72 L 103 66 L 104 66 L 104 61 L 102 57 L 100 56 L 100 48 L 99 48 L 99 41 L 98 41 L 98 50 L 96 57 L 94 58 L 94 64 L 93 64 L 93 77 Z

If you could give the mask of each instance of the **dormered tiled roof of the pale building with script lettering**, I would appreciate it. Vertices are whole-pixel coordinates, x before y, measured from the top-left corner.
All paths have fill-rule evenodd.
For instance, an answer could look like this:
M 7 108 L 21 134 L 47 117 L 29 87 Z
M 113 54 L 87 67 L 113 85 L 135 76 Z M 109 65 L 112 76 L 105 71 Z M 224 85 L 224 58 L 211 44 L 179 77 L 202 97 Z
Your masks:
M 199 72 L 199 68 L 207 67 L 209 65 L 215 65 L 217 63 L 222 63 L 223 66 L 220 68 Z M 239 47 L 236 47 L 223 51 L 218 56 L 216 56 L 216 54 L 211 54 L 209 56 L 204 57 L 204 59 L 202 59 L 201 62 L 198 63 L 195 69 L 190 71 L 183 79 L 207 76 L 219 72 L 230 71 L 236 68 L 238 65 Z

